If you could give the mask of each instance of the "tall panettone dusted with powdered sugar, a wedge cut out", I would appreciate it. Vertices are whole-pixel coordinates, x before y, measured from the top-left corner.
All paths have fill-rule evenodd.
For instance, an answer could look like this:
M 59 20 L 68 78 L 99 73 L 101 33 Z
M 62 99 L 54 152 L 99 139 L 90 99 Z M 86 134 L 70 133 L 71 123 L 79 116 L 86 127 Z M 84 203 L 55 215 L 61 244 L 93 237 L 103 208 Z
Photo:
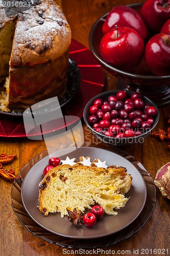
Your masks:
M 71 31 L 60 7 L 41 0 L 7 17 L 0 5 L 1 109 L 26 109 L 66 90 Z

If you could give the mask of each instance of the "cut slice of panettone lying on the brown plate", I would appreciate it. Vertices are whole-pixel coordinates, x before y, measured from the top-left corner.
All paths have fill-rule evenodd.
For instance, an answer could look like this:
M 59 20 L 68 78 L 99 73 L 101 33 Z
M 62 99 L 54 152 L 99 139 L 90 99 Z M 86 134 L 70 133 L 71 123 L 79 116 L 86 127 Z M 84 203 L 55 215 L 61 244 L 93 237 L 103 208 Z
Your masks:
M 50 169 L 39 184 L 39 210 L 67 215 L 67 209 L 85 208 L 99 203 L 106 214 L 116 215 L 115 208 L 124 207 L 125 194 L 131 186 L 131 177 L 124 167 L 91 167 L 75 164 L 59 165 Z

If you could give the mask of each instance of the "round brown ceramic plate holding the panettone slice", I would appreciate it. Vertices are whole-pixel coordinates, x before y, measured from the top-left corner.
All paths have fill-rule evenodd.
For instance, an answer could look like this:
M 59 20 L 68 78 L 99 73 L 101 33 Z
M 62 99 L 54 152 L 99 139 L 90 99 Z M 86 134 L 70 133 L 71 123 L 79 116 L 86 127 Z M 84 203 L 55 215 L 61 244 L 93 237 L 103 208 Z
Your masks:
M 68 221 L 66 216 L 61 218 L 60 213 L 49 214 L 47 217 L 44 217 L 37 209 L 37 205 L 39 204 L 38 185 L 43 179 L 42 171 L 49 159 L 46 156 L 32 166 L 23 180 L 21 187 L 22 203 L 29 216 L 38 225 L 47 231 L 67 238 L 94 239 L 109 236 L 126 228 L 140 215 L 145 204 L 147 189 L 139 170 L 129 160 L 113 152 L 93 147 L 80 147 L 75 152 L 67 155 L 70 158 L 76 157 L 77 159 L 80 156 L 90 156 L 92 160 L 95 158 L 99 158 L 101 161 L 106 160 L 107 165 L 115 164 L 117 166 L 125 166 L 128 170 L 127 173 L 133 177 L 132 186 L 126 195 L 130 199 L 124 208 L 117 210 L 118 215 L 109 216 L 105 214 L 103 219 L 98 221 L 92 228 L 88 228 L 85 225 L 81 227 L 74 226 Z M 57 152 L 54 156 L 57 156 Z M 66 155 L 64 155 L 63 150 L 63 157 L 61 159 L 65 158 Z

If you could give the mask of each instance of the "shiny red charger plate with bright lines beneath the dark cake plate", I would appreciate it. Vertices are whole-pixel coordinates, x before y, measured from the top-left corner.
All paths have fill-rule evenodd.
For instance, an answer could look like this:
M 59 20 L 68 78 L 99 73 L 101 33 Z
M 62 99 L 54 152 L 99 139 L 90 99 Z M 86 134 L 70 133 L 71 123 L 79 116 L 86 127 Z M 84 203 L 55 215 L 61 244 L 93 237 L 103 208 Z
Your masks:
M 101 65 L 95 60 L 88 48 L 74 39 L 71 40 L 70 58 L 77 63 L 81 73 L 80 88 L 74 100 L 71 100 L 62 108 L 64 115 L 77 116 L 74 121 L 71 121 L 70 124 L 72 124 L 83 117 L 83 110 L 86 103 L 92 97 L 103 91 L 105 78 Z M 58 127 L 58 129 L 60 128 Z M 32 135 L 35 136 L 38 134 L 33 130 Z M 27 137 L 22 117 L 0 114 L 0 136 Z

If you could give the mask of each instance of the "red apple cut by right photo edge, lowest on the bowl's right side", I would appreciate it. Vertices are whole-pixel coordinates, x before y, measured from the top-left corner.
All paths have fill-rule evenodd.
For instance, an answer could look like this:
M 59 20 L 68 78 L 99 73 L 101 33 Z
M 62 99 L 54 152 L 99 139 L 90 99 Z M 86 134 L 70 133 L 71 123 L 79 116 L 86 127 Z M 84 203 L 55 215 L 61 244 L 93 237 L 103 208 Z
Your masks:
M 170 34 L 154 35 L 145 47 L 145 61 L 158 76 L 170 75 Z

